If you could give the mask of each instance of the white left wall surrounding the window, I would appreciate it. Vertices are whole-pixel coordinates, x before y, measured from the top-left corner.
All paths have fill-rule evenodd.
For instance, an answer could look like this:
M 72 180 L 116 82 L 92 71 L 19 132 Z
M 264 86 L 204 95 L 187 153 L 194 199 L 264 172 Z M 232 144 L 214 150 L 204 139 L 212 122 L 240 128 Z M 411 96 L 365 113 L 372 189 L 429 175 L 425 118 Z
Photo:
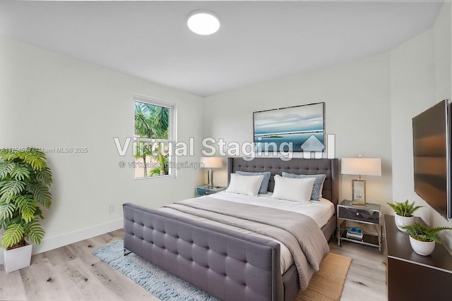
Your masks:
M 194 137 L 199 161 L 201 98 L 37 47 L 0 39 L 0 147 L 87 147 L 85 154 L 47 152 L 53 204 L 46 235 L 34 252 L 122 227 L 124 202 L 161 207 L 194 197 L 202 172 L 178 171 L 172 180 L 133 180 L 132 147 L 119 156 L 113 137 L 133 135 L 133 94 L 176 103 L 177 140 Z M 109 213 L 114 204 L 116 213 Z

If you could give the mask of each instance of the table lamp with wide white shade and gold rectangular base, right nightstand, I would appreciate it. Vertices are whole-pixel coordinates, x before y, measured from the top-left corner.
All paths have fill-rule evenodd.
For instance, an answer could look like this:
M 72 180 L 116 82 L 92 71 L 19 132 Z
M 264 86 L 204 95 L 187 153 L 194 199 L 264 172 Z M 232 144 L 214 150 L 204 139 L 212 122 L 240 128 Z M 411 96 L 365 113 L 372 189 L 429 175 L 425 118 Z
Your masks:
M 366 180 L 361 176 L 381 176 L 381 159 L 379 158 L 343 158 L 340 173 L 357 175 L 352 180 L 352 204 L 366 204 Z

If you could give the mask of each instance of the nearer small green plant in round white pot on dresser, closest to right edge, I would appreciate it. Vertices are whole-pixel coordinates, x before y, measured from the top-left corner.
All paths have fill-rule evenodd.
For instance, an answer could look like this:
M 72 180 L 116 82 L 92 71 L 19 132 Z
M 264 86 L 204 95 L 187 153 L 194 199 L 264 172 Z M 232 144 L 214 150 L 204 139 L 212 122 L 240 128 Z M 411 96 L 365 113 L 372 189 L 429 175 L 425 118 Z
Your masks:
M 435 242 L 441 243 L 438 233 L 443 230 L 452 230 L 449 227 L 431 228 L 420 223 L 413 223 L 410 226 L 403 226 L 410 235 L 410 245 L 412 250 L 422 256 L 432 254 L 435 248 Z

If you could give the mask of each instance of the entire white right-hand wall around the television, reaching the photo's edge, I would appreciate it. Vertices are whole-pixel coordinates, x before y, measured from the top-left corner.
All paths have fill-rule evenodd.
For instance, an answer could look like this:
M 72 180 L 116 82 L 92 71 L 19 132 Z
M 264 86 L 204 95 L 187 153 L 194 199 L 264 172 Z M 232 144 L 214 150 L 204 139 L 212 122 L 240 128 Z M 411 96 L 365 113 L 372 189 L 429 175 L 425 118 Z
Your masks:
M 425 206 L 416 212 L 431 226 L 452 226 L 414 192 L 412 118 L 442 99 L 451 99 L 451 4 L 434 27 L 391 51 L 393 197 Z M 452 231 L 441 233 L 452 249 Z

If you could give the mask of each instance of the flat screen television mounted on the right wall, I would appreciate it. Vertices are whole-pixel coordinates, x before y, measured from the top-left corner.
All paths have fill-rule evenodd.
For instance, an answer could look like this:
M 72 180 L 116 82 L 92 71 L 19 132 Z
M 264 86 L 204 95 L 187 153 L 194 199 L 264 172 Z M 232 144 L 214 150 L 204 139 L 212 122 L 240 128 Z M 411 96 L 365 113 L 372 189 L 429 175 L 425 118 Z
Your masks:
M 443 100 L 412 118 L 415 192 L 451 219 L 451 118 Z

